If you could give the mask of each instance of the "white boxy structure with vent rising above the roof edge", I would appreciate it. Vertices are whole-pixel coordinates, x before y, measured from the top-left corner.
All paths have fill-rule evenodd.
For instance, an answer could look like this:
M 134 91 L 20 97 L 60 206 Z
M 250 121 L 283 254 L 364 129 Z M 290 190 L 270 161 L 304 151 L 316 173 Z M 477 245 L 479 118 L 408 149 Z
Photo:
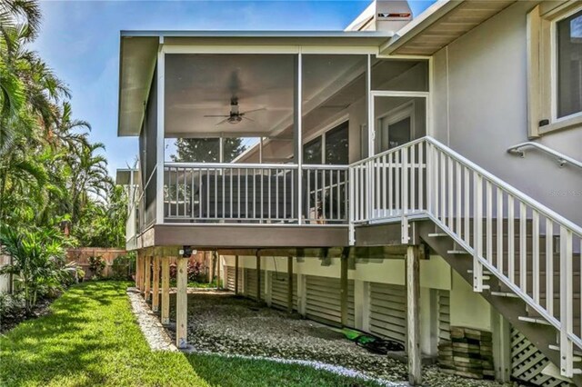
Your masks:
M 374 0 L 346 31 L 388 31 L 396 33 L 412 20 L 406 0 Z

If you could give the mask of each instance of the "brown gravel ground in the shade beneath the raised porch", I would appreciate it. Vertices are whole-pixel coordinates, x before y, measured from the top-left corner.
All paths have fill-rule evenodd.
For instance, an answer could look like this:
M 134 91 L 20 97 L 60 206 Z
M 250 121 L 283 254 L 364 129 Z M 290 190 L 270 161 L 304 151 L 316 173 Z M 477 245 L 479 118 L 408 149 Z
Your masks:
M 188 293 L 188 342 L 194 351 L 323 362 L 386 382 L 407 380 L 405 363 L 367 352 L 324 324 L 290 317 L 233 293 Z M 175 304 L 174 300 L 170 303 Z M 175 313 L 170 310 L 171 317 Z M 175 332 L 169 333 L 176 337 Z M 426 386 L 443 387 L 502 385 L 450 375 L 434 365 L 423 368 L 423 381 Z

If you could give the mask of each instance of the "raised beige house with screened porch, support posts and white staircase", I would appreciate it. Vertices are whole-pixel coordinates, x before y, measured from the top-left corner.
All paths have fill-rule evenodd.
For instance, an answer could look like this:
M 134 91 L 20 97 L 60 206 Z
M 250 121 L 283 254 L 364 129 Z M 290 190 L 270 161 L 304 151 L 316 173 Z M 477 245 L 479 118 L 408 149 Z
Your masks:
M 422 354 L 582 385 L 582 4 L 376 0 L 344 32 L 124 31 L 120 56 L 126 243 L 163 323 L 168 257 L 213 250 L 236 293 L 406 342 L 413 384 Z

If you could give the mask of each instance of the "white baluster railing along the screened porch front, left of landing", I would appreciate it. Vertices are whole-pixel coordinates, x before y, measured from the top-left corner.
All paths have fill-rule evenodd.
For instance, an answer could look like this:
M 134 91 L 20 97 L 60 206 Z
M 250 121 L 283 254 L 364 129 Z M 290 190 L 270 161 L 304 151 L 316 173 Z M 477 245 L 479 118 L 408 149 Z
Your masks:
M 165 222 L 345 224 L 347 168 L 166 163 Z

